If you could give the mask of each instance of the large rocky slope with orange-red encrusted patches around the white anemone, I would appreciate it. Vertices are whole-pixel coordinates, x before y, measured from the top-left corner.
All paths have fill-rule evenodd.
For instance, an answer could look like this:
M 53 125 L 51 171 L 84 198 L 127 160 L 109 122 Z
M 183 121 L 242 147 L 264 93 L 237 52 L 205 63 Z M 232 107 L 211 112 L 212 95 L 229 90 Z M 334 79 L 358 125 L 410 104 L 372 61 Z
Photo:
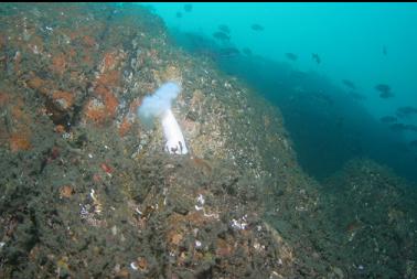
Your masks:
M 175 49 L 151 11 L 0 13 L 1 278 L 348 277 L 279 111 Z M 186 155 L 136 116 L 168 81 Z

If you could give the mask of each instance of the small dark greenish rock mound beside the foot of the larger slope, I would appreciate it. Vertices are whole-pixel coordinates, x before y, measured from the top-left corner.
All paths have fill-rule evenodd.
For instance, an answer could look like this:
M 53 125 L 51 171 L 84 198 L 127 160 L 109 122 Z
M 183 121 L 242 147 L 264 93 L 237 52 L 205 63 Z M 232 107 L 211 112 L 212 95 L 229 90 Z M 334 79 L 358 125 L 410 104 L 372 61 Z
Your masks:
M 329 221 L 353 278 L 416 276 L 416 189 L 373 161 L 352 160 L 324 183 Z M 344 196 L 344 198 L 341 198 Z M 395 255 L 402 255 L 398 259 Z

